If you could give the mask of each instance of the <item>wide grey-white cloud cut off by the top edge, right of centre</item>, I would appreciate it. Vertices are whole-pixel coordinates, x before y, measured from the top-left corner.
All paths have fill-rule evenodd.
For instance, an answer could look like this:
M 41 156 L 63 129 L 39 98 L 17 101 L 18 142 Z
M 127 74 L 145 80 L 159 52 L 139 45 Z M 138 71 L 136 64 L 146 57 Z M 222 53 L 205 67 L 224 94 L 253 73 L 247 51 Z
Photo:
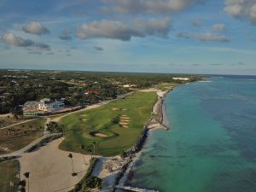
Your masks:
M 108 12 L 125 14 L 163 14 L 175 13 L 188 8 L 202 0 L 102 0 L 112 3 L 113 6 L 105 7 Z

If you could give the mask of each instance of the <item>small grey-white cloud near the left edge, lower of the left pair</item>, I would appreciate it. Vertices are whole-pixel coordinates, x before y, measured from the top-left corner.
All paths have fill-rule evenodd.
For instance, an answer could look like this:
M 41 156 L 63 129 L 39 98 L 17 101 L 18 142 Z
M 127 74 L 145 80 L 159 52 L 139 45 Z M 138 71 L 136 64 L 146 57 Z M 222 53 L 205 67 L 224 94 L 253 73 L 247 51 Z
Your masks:
M 32 40 L 17 37 L 13 32 L 3 34 L 2 40 L 6 44 L 13 45 L 15 47 L 29 47 L 34 44 Z

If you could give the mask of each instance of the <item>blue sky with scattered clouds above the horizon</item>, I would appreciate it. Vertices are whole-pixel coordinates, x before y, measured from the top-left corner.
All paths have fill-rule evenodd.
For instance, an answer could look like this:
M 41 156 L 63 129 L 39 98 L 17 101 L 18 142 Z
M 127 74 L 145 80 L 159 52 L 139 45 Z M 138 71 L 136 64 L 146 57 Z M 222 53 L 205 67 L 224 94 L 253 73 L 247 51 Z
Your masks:
M 256 74 L 256 0 L 1 0 L 0 68 Z

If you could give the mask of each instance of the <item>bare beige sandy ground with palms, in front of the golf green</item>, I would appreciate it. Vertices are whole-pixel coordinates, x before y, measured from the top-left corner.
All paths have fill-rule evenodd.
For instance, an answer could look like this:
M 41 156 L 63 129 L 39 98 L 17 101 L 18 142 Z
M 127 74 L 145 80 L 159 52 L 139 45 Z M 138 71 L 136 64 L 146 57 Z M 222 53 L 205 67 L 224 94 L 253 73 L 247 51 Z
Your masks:
M 20 158 L 20 177 L 24 179 L 24 172 L 30 172 L 31 192 L 66 192 L 79 183 L 89 167 L 90 155 L 73 154 L 74 172 L 72 176 L 69 152 L 61 151 L 58 146 L 63 138 L 57 139 L 39 150 L 23 154 Z M 88 165 L 84 165 L 85 162 Z

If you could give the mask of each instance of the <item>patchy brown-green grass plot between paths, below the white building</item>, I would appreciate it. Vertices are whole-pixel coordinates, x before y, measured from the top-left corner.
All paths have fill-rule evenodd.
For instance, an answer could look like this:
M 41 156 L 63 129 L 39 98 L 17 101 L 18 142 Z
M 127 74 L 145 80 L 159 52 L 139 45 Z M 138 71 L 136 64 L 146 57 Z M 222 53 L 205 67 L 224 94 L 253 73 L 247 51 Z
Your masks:
M 46 119 L 38 118 L 24 124 L 12 126 L 9 129 L 0 130 L 0 154 L 9 154 L 20 148 L 26 147 L 38 137 L 43 135 Z

